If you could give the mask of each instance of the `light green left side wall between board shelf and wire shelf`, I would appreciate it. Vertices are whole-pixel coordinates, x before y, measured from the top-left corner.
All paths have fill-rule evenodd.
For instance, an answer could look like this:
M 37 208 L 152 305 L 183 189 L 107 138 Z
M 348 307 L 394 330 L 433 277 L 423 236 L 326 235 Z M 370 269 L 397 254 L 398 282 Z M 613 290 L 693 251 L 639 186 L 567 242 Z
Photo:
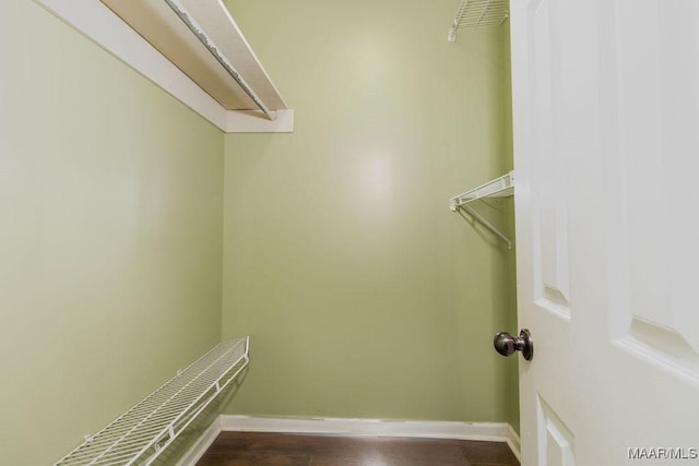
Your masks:
M 0 56 L 0 463 L 34 466 L 218 342 L 224 141 L 32 1 Z

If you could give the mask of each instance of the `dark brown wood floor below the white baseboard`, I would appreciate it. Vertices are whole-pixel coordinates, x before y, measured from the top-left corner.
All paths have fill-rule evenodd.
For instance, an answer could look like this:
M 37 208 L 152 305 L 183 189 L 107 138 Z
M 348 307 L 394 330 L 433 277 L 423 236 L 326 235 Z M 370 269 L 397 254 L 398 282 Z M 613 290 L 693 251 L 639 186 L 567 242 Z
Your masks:
M 506 443 L 222 432 L 197 466 L 514 466 Z

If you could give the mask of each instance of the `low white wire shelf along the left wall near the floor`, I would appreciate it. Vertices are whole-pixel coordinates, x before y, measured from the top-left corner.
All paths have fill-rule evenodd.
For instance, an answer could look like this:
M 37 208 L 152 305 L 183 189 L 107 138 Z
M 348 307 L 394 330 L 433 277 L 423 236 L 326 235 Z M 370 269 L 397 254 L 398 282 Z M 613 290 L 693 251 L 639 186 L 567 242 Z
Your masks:
M 250 338 L 224 342 L 56 463 L 150 465 L 250 361 Z

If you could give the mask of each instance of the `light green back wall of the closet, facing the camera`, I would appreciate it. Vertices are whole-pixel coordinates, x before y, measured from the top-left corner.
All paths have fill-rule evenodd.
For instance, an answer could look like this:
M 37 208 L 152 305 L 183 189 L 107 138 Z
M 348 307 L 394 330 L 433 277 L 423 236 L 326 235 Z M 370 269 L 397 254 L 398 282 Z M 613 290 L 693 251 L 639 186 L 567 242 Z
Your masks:
M 513 252 L 448 208 L 511 167 L 502 29 L 447 43 L 455 0 L 227 3 L 296 131 L 225 140 L 223 337 L 252 345 L 226 413 L 512 419 Z

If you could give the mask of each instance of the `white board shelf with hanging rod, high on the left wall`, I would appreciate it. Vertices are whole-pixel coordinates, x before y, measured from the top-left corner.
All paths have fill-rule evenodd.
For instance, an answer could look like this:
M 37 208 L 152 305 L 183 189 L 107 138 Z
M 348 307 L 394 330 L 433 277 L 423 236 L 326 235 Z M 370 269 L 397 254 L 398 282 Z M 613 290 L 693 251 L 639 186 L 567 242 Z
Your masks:
M 258 121 L 261 119 L 257 116 L 247 118 L 256 108 L 251 99 L 161 0 L 34 1 L 225 132 L 294 130 L 294 112 L 288 111 L 221 0 L 180 0 L 180 3 L 196 16 L 256 94 L 266 99 L 265 105 L 275 115 L 285 110 L 284 123 Z

